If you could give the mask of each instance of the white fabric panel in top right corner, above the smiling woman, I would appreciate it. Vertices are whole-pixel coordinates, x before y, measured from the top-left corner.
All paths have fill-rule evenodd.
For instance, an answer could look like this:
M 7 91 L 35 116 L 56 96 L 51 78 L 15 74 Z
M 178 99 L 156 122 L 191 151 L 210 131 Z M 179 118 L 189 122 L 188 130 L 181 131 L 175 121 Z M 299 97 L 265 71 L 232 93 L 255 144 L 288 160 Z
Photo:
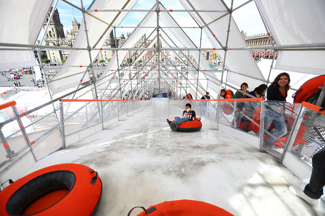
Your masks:
M 256 0 L 277 45 L 325 42 L 325 1 Z M 325 74 L 325 51 L 281 51 L 275 68 Z

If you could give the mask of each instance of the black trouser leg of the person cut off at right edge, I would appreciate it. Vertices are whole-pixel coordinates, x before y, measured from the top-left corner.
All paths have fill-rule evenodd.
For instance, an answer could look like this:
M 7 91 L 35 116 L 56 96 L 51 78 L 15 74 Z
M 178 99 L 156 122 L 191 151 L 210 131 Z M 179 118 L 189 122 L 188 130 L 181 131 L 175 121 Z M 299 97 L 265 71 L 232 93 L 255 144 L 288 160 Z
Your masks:
M 306 185 L 304 193 L 313 199 L 319 199 L 323 195 L 325 186 L 325 151 L 316 153 L 313 158 L 313 170 L 309 184 Z

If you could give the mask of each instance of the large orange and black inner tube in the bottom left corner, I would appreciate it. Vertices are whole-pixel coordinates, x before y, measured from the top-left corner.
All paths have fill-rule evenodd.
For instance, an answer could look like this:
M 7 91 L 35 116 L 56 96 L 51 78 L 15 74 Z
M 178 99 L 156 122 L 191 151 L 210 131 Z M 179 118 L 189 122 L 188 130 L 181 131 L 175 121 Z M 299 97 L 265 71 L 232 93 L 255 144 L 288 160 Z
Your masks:
M 0 215 L 93 215 L 102 181 L 74 163 L 49 166 L 17 180 L 0 193 Z

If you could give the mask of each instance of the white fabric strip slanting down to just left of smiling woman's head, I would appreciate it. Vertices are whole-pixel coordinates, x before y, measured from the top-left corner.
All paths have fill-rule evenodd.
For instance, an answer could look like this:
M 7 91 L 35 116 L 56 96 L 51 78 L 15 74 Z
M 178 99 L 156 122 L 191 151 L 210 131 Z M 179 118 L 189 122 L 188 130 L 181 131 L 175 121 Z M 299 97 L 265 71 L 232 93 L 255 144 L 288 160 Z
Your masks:
M 220 1 L 214 1 L 213 4 L 211 4 L 211 1 L 209 0 L 193 0 L 190 1 L 193 8 L 187 3 L 186 0 L 180 0 L 180 3 L 184 6 L 185 9 L 196 9 L 196 10 L 226 10 L 225 6 Z M 218 38 L 221 45 L 223 47 L 226 46 L 226 37 L 227 37 L 227 31 L 228 31 L 228 25 L 229 25 L 229 14 L 221 17 L 224 15 L 224 12 L 218 12 L 218 13 L 200 13 L 200 17 L 195 12 L 190 12 L 191 16 L 196 19 L 196 21 L 201 25 L 205 26 L 204 22 L 208 24 L 209 28 L 212 30 L 213 34 Z M 214 48 L 221 48 L 218 41 L 215 39 L 213 34 L 210 32 L 210 30 L 205 26 L 204 31 L 206 35 L 208 36 L 212 46 Z M 231 24 L 230 24 L 230 34 L 228 39 L 228 47 L 229 48 L 244 48 L 247 47 L 246 42 L 238 29 L 235 21 L 233 18 L 231 18 Z M 238 51 L 238 50 L 229 50 L 226 53 L 226 59 L 224 59 L 224 51 L 222 50 L 216 50 L 216 52 L 219 54 L 222 61 L 224 61 L 225 66 L 230 70 L 229 76 L 228 76 L 228 82 L 233 83 L 237 86 L 240 86 L 240 84 L 245 80 L 247 83 L 250 83 L 252 86 L 258 86 L 259 84 L 262 84 L 263 81 L 257 80 L 265 78 L 263 77 L 261 71 L 257 67 L 255 60 L 253 59 L 250 51 Z M 236 73 L 232 73 L 231 71 L 235 71 Z M 254 78 L 249 78 L 245 75 L 249 75 Z M 256 79 L 257 78 L 257 79 Z

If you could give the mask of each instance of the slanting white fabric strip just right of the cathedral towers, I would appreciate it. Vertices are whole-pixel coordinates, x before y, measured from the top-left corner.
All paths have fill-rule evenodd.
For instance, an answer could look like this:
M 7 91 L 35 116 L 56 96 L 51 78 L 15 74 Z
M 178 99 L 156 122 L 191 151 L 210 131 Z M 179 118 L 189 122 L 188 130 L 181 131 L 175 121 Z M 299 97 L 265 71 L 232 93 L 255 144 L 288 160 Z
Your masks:
M 115 0 L 105 0 L 105 1 L 95 1 L 91 6 L 91 10 L 95 9 L 122 9 L 127 0 L 115 1 Z M 130 1 L 124 9 L 131 9 L 137 0 Z M 88 40 L 91 48 L 102 48 L 107 37 L 112 31 L 112 26 L 117 24 L 124 16 L 126 12 L 121 12 L 118 15 L 118 12 L 89 12 L 89 14 L 99 18 L 100 20 L 105 21 L 106 23 L 96 19 L 92 16 L 85 15 L 87 31 L 88 31 Z M 112 23 L 114 18 L 118 18 Z M 85 32 L 84 21 L 81 22 L 80 29 L 76 38 L 76 41 L 73 47 L 76 48 L 87 48 L 87 38 Z M 108 28 L 108 24 L 112 23 L 113 25 L 108 29 L 108 31 L 101 38 L 104 31 Z M 99 43 L 95 46 L 96 42 Z M 95 46 L 95 47 L 94 47 Z M 91 51 L 91 61 L 93 62 L 99 50 Z M 72 50 L 69 54 L 69 57 L 64 63 L 64 66 L 78 66 L 78 67 L 64 67 L 62 68 L 50 82 L 50 87 L 53 94 L 59 93 L 63 90 L 67 90 L 71 87 L 74 87 L 80 83 L 82 76 L 84 75 L 87 66 L 90 65 L 89 53 L 87 50 Z M 89 80 L 88 74 L 86 74 L 84 81 Z M 64 79 L 62 79 L 64 78 Z

